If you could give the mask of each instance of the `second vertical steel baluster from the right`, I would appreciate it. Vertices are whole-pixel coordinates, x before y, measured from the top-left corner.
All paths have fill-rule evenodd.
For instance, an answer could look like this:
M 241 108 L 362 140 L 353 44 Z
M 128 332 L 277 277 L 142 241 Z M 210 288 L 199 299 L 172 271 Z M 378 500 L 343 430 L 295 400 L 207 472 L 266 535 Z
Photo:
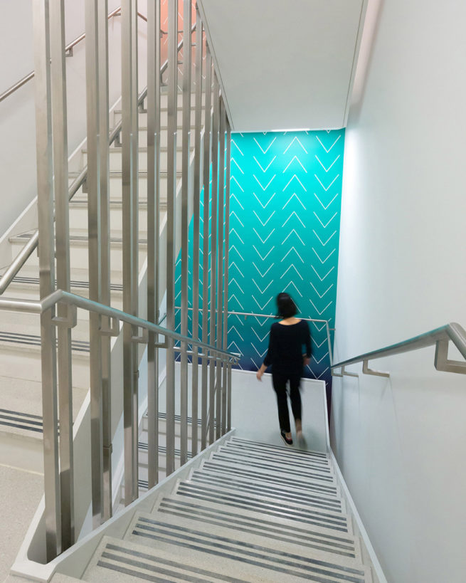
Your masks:
M 218 279 L 217 279 L 217 335 L 216 347 L 222 347 L 223 326 L 223 213 L 225 211 L 223 198 L 225 188 L 225 107 L 220 99 L 220 130 L 218 133 Z M 225 401 L 224 385 L 222 384 L 223 362 L 217 362 L 217 402 L 216 402 L 216 439 L 223 434 L 225 416 L 223 416 L 223 402 Z

